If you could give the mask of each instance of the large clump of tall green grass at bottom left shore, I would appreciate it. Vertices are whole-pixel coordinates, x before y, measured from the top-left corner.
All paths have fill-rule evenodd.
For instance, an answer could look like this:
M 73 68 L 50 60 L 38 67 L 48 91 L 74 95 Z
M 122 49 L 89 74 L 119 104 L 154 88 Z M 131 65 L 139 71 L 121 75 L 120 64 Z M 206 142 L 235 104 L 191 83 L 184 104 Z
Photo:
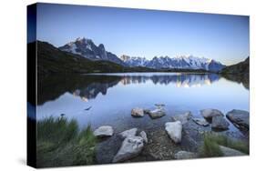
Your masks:
M 36 166 L 94 164 L 96 143 L 90 126 L 79 131 L 76 120 L 49 117 L 37 121 Z

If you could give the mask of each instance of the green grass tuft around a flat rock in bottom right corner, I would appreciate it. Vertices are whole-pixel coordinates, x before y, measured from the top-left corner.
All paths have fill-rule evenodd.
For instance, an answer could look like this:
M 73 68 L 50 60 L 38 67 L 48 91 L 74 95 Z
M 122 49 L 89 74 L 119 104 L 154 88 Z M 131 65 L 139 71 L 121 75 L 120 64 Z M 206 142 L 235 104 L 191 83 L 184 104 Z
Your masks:
M 223 156 L 220 146 L 227 146 L 242 153 L 249 154 L 249 145 L 238 140 L 232 140 L 227 136 L 206 134 L 204 135 L 203 146 L 200 148 L 200 156 Z

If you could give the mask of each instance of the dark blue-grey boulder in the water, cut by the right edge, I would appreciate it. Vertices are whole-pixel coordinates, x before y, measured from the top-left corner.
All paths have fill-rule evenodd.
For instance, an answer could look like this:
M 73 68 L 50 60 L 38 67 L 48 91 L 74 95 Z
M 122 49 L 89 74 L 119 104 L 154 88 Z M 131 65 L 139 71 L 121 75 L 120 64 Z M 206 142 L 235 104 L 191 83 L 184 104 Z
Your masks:
M 226 116 L 234 126 L 249 130 L 249 112 L 234 109 L 228 112 Z

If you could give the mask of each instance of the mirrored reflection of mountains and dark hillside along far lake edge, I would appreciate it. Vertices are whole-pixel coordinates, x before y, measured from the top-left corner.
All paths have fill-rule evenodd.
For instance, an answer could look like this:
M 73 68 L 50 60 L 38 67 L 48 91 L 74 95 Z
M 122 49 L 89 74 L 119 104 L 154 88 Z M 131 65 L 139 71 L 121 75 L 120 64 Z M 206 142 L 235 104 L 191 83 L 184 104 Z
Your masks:
M 218 81 L 220 75 L 216 74 L 103 74 L 103 75 L 52 75 L 38 82 L 38 105 L 54 100 L 66 92 L 81 97 L 82 100 L 96 98 L 99 93 L 107 95 L 108 88 L 122 84 L 145 84 L 152 82 L 154 85 L 174 84 L 177 87 L 194 87 L 211 85 Z

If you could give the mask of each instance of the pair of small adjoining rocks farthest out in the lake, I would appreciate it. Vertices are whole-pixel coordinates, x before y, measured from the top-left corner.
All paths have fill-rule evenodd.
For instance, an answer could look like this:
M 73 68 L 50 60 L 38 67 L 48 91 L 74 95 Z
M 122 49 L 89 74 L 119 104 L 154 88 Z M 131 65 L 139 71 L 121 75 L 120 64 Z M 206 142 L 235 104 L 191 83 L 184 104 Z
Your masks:
M 162 104 L 156 104 L 155 106 L 157 106 L 156 109 L 153 110 L 149 110 L 149 109 L 143 109 L 143 108 L 133 108 L 131 110 L 131 116 L 134 117 L 143 117 L 144 115 L 148 115 L 150 116 L 152 119 L 157 119 L 159 117 L 165 116 L 166 112 L 164 109 L 164 105 Z

